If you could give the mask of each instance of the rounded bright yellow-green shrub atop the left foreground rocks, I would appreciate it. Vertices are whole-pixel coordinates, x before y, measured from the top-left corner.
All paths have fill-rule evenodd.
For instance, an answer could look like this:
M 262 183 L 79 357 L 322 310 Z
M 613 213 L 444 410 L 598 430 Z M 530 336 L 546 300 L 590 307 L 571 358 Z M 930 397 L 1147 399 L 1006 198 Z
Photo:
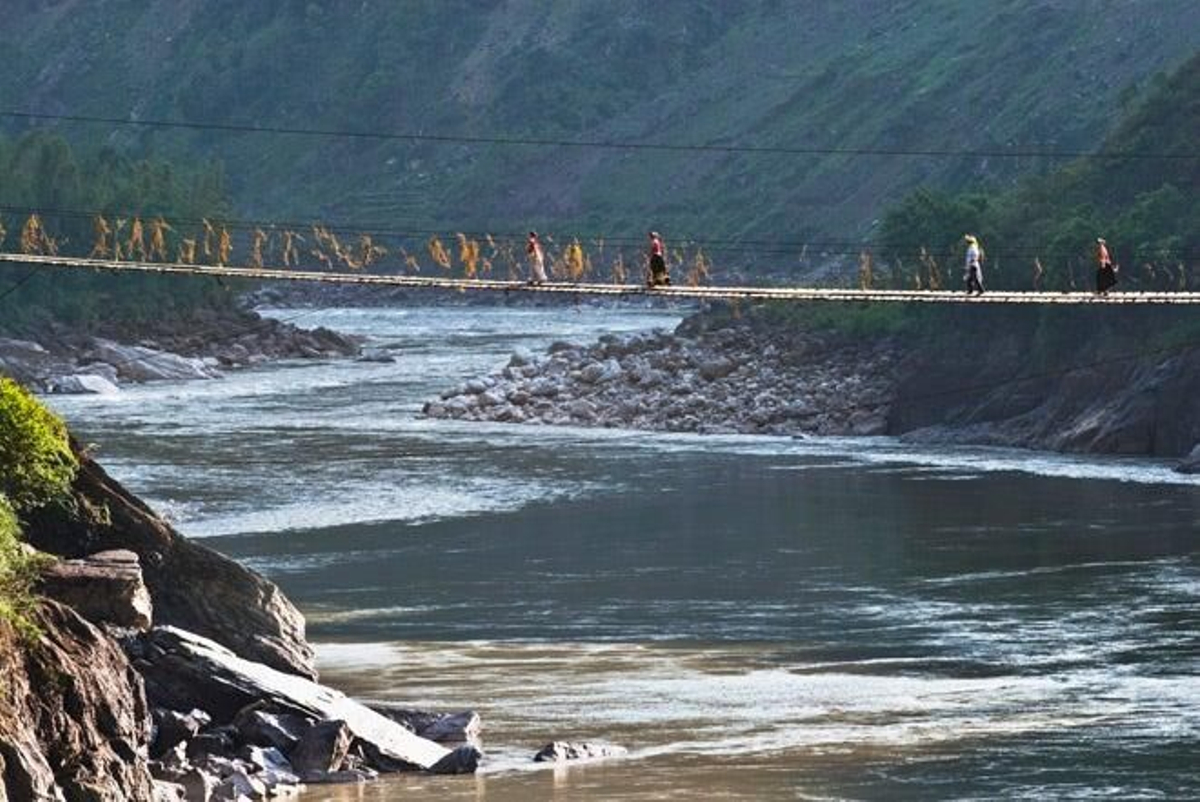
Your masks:
M 62 420 L 0 378 L 0 493 L 8 505 L 20 513 L 65 497 L 78 467 Z

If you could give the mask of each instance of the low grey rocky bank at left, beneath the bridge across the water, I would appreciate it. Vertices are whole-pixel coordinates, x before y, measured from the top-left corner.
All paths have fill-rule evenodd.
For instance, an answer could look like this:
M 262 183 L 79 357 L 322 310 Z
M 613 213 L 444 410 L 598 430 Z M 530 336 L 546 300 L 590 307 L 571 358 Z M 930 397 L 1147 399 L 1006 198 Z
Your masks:
M 202 310 L 186 321 L 102 327 L 80 334 L 48 324 L 0 337 L 0 373 L 41 393 L 114 393 L 121 384 L 220 377 L 276 359 L 353 357 L 360 345 L 247 310 Z

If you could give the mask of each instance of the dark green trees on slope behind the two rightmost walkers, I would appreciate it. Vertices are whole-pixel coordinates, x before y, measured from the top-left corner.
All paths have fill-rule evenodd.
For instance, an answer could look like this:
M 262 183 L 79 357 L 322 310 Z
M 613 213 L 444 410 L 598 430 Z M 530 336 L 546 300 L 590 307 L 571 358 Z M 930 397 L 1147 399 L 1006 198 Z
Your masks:
M 1200 289 L 1200 55 L 1156 82 L 1102 151 L 992 197 L 920 190 L 887 213 L 876 281 L 959 286 L 962 235 L 982 235 L 994 287 L 1092 287 L 1104 237 L 1132 289 Z M 1154 156 L 1148 158 L 1146 156 Z M 1174 158 L 1158 158 L 1172 156 Z M 1040 275 L 1036 276 L 1040 268 Z

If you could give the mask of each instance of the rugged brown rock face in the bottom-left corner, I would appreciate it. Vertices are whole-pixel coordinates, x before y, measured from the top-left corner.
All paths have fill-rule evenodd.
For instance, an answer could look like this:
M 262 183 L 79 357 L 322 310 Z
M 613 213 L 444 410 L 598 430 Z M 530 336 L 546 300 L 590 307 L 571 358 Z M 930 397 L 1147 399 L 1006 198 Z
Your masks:
M 149 802 L 150 717 L 114 640 L 46 602 L 41 638 L 0 624 L 0 800 Z

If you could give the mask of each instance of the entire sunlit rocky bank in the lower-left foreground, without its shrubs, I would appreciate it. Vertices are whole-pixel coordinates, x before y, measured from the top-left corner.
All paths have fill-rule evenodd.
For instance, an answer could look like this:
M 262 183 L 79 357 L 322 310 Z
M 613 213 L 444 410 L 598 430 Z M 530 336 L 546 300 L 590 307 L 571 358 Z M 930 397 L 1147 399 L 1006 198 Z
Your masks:
M 322 686 L 278 587 L 190 541 L 73 447 L 66 503 L 29 514 L 36 634 L 0 622 L 0 802 L 264 800 L 383 773 L 469 774 L 473 711 Z M 619 747 L 551 743 L 536 761 Z

